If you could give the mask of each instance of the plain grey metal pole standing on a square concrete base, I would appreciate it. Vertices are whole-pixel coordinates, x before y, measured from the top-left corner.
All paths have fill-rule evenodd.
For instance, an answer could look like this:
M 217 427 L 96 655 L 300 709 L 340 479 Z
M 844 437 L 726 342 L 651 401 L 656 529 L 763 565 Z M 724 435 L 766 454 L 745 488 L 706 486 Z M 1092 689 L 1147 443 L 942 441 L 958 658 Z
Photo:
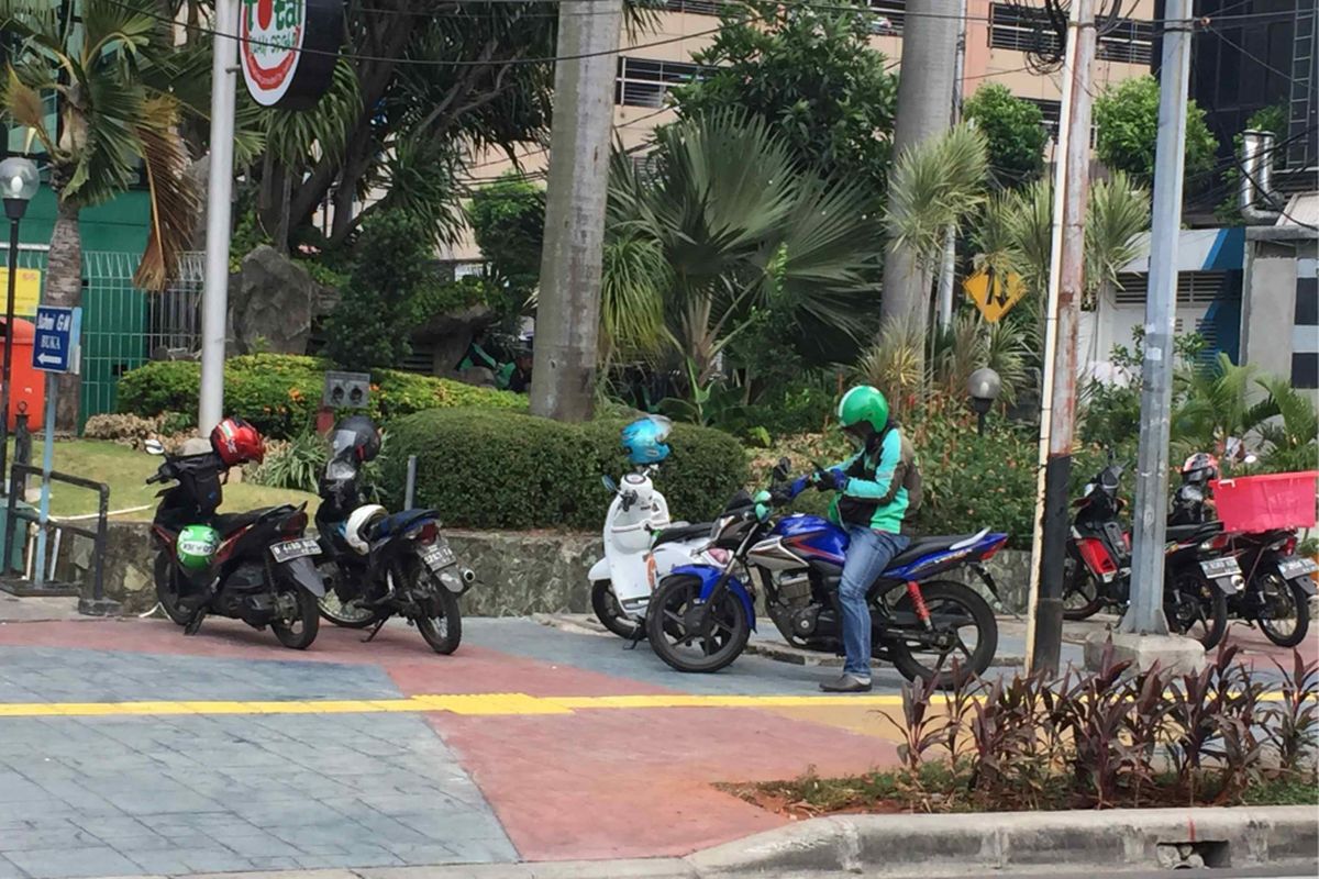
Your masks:
M 1154 208 L 1150 277 L 1141 369 L 1141 439 L 1132 522 L 1132 601 L 1122 633 L 1166 635 L 1163 535 L 1167 526 L 1167 444 L 1173 410 L 1173 332 L 1177 322 L 1177 244 L 1182 227 L 1186 103 L 1191 69 L 1191 0 L 1169 0 L 1159 67 L 1158 141 L 1154 146 Z

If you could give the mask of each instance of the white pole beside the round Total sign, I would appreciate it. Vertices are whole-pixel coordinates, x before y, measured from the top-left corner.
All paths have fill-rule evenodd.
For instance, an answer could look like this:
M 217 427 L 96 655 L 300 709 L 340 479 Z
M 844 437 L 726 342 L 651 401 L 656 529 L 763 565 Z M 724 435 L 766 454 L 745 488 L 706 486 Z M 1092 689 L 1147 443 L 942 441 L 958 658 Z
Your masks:
M 239 0 L 215 0 L 211 153 L 206 190 L 206 286 L 202 293 L 202 393 L 197 415 L 197 427 L 203 436 L 224 418 L 224 336 L 230 311 L 230 211 L 233 195 L 237 32 Z

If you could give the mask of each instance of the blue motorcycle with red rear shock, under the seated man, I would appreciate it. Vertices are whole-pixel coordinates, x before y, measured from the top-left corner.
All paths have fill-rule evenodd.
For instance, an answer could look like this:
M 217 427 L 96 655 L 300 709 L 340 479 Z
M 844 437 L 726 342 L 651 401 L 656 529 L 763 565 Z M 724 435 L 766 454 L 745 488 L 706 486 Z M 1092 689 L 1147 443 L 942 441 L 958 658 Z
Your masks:
M 786 461 L 774 477 L 786 482 Z M 838 586 L 848 535 L 814 515 L 776 518 L 774 502 L 782 497 L 736 494 L 710 531 L 708 548 L 727 557 L 723 567 L 683 565 L 660 582 L 646 634 L 665 663 L 682 672 L 714 672 L 737 659 L 756 627 L 753 573 L 770 619 L 791 646 L 842 654 Z M 913 540 L 871 586 L 873 656 L 907 680 L 935 687 L 952 683 L 954 666 L 984 673 L 998 646 L 998 625 L 988 602 L 948 575 L 977 567 L 1006 542 L 1006 534 L 988 528 Z

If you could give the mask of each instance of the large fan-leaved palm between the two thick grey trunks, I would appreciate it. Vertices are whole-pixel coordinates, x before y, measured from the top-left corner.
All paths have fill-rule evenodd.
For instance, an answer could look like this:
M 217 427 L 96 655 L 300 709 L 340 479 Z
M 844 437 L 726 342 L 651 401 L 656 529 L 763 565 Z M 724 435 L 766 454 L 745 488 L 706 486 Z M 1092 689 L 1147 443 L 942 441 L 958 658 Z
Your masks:
M 609 228 L 633 246 L 654 242 L 658 277 L 627 287 L 658 297 L 695 385 L 712 381 L 757 308 L 791 310 L 803 336 L 861 331 L 877 262 L 864 188 L 826 184 L 762 120 L 736 111 L 670 125 L 656 140 L 653 178 L 615 153 Z M 607 295 L 623 289 L 607 278 Z M 617 311 L 604 306 L 607 318 Z

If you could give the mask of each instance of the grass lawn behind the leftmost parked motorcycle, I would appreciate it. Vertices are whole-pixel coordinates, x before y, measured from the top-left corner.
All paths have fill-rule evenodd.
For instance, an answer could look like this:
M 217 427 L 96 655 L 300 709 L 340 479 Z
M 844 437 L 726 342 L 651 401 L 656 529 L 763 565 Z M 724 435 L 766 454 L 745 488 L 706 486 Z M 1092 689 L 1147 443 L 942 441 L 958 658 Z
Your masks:
M 13 453 L 11 445 L 11 455 Z M 40 438 L 33 438 L 32 463 L 41 467 L 42 445 Z M 12 459 L 11 459 L 12 460 Z M 160 459 L 146 452 L 137 452 L 127 445 L 98 440 L 69 440 L 55 443 L 55 470 L 80 476 L 109 485 L 109 510 L 131 510 L 146 507 L 115 517 L 120 521 L 150 521 L 156 513 L 156 493 L 162 485 L 146 485 L 146 477 L 156 473 Z M 36 488 L 38 481 L 32 480 Z M 241 511 L 277 503 L 307 502 L 309 514 L 315 511 L 317 497 L 302 492 L 270 489 L 261 485 L 231 482 L 224 486 L 222 511 Z M 86 489 L 51 482 L 51 515 L 80 515 L 96 511 L 96 494 Z

